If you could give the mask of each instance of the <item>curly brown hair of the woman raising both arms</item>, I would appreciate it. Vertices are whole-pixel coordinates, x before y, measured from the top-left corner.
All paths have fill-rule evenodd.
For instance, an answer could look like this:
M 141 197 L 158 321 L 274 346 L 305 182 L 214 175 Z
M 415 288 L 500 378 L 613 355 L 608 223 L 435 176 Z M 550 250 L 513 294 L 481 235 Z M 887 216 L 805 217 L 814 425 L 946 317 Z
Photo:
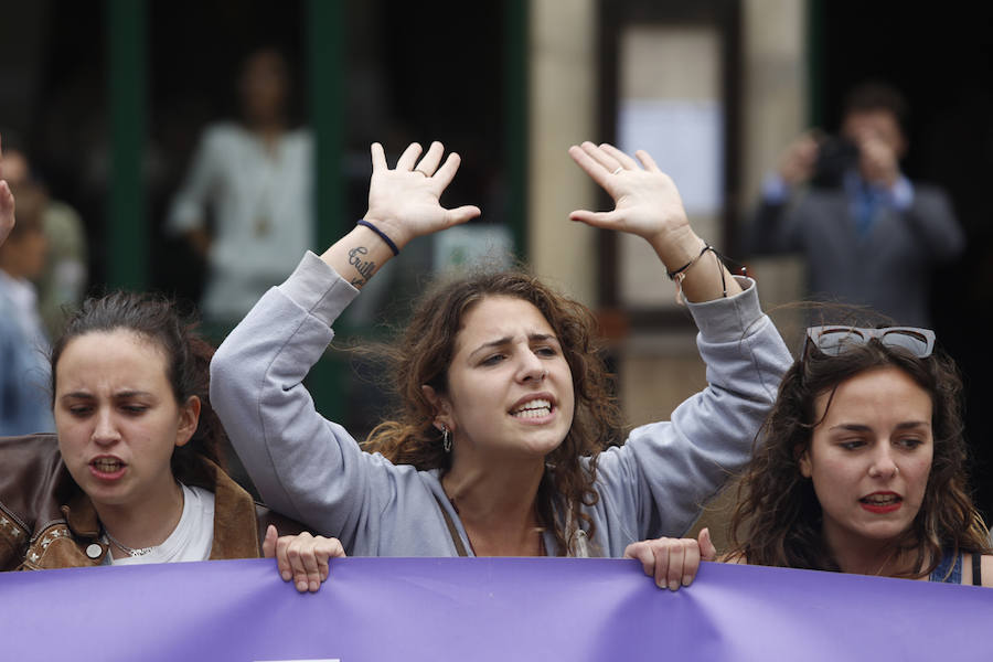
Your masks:
M 594 505 L 599 499 L 594 488 L 597 457 L 617 438 L 620 410 L 599 353 L 592 313 L 535 276 L 523 271 L 481 273 L 444 285 L 424 297 L 402 338 L 385 349 L 394 367 L 401 410 L 395 420 L 373 429 L 366 449 L 419 470 L 449 469 L 450 458 L 441 447 L 441 434 L 433 425 L 436 410 L 421 385 L 447 393 L 448 367 L 462 320 L 480 301 L 494 296 L 534 305 L 555 331 L 572 372 L 576 397 L 573 425 L 546 458 L 537 494 L 542 524 L 554 527 L 557 553 L 567 554 L 574 549 L 573 536 L 580 528 L 580 520 L 588 526 L 587 536 L 592 538 L 595 534 L 594 522 L 580 506 Z M 568 521 L 559 523 L 554 516 L 556 511 Z

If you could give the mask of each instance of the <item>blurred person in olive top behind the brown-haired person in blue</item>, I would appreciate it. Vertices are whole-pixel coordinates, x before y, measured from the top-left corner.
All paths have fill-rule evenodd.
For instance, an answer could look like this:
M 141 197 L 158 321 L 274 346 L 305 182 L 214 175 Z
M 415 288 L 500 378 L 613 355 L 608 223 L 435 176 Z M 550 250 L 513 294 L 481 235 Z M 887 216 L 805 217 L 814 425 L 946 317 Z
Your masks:
M 11 140 L 9 132 L 3 150 L 3 178 L 18 189 L 38 183 L 26 151 Z M 23 204 L 23 203 L 22 203 Z M 38 311 L 49 338 L 62 334 L 68 310 L 83 300 L 87 279 L 86 233 L 79 214 L 68 204 L 49 199 L 42 213 L 49 257 L 34 280 L 38 287 Z

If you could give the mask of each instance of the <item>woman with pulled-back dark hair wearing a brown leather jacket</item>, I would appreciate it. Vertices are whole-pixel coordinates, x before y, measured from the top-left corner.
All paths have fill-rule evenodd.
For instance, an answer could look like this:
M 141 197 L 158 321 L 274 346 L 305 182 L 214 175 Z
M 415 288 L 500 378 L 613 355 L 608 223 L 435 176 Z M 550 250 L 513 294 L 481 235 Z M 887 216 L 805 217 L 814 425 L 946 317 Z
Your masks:
M 13 212 L 0 180 L 0 243 Z M 277 541 L 277 526 L 295 534 L 299 524 L 256 504 L 221 468 L 212 355 L 162 298 L 116 292 L 83 303 L 52 351 L 56 434 L 0 438 L 0 570 L 250 558 L 277 548 L 285 557 L 289 545 L 339 555 L 333 540 Z M 38 385 L 28 378 L 24 387 Z

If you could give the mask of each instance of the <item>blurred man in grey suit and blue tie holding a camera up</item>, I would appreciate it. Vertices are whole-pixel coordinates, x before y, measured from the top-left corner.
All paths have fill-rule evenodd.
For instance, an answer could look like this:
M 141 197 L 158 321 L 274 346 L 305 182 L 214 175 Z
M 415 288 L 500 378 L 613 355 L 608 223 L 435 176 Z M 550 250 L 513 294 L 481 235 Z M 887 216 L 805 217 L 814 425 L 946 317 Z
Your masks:
M 964 237 L 944 193 L 900 172 L 906 115 L 895 89 L 853 89 L 839 137 L 810 131 L 786 149 L 748 238 L 755 254 L 803 253 L 814 298 L 929 327 L 931 269 Z

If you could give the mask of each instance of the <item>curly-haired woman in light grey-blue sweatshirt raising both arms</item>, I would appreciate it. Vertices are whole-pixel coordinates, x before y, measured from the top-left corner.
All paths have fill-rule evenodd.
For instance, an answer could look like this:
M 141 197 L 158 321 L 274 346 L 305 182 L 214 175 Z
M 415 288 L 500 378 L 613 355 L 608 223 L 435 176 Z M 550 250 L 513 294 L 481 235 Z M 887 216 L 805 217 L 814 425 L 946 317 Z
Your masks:
M 748 460 L 789 353 L 754 284 L 693 233 L 644 152 L 639 164 L 610 146 L 570 148 L 617 202 L 572 218 L 645 238 L 681 281 L 711 386 L 672 423 L 608 448 L 618 412 L 591 312 L 516 271 L 424 298 L 396 352 L 401 413 L 365 448 L 380 453 L 314 409 L 303 377 L 357 288 L 409 241 L 480 213 L 441 206 L 459 163 L 442 152 L 436 142 L 421 158 L 412 145 L 389 169 L 373 145 L 365 218 L 307 255 L 214 357 L 213 401 L 260 493 L 356 555 L 619 557 L 636 541 L 682 534 Z M 660 583 L 679 586 L 682 563 Z

